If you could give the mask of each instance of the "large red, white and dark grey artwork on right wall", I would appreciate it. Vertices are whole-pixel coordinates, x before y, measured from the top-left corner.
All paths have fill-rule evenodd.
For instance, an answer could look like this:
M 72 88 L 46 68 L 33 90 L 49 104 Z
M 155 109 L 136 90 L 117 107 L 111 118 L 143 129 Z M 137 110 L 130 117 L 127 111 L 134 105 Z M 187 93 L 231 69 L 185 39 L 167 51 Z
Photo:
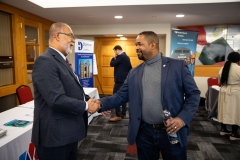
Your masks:
M 240 25 L 179 27 L 198 31 L 196 64 L 224 65 L 229 53 L 240 52 Z

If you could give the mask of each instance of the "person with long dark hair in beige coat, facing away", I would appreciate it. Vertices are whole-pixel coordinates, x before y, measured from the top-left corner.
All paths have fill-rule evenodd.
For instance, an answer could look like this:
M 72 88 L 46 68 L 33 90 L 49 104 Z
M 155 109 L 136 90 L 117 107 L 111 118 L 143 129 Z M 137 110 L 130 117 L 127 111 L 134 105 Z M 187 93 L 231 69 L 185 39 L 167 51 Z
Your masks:
M 220 135 L 230 135 L 230 140 L 240 140 L 240 54 L 231 52 L 224 66 L 219 71 L 218 116 L 221 122 Z M 232 126 L 232 132 L 226 127 Z

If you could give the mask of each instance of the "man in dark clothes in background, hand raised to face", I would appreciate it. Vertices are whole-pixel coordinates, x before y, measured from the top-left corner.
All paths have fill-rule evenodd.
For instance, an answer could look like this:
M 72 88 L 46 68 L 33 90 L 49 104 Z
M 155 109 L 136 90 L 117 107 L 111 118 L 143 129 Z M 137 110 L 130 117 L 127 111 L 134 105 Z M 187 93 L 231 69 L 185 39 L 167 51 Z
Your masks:
M 114 67 L 114 88 L 113 93 L 116 93 L 121 88 L 124 80 L 126 79 L 128 72 L 132 69 L 132 65 L 129 57 L 123 52 L 120 45 L 116 45 L 113 48 L 114 57 L 110 61 L 110 66 Z M 120 121 L 122 118 L 126 118 L 126 103 L 122 104 L 122 111 L 119 107 L 115 108 L 116 116 L 109 119 L 111 122 Z

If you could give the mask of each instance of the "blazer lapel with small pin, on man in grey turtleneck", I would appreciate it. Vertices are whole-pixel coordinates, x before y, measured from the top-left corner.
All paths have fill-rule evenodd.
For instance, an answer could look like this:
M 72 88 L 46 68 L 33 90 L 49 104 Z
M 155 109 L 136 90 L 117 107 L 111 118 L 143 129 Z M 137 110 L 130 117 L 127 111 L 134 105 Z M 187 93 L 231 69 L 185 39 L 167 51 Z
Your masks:
M 163 101 L 164 91 L 166 87 L 167 75 L 170 64 L 168 63 L 169 60 L 166 57 L 162 56 L 162 75 L 161 75 L 161 99 L 162 99 L 162 106 L 166 107 L 165 102 Z

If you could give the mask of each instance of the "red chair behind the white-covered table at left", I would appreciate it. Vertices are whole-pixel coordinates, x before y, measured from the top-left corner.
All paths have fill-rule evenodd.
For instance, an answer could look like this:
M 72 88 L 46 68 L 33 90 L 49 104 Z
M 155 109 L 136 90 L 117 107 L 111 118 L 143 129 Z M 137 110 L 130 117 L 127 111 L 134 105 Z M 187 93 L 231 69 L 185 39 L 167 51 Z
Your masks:
M 21 85 L 16 89 L 16 94 L 20 104 L 27 103 L 33 100 L 31 88 L 26 85 Z

